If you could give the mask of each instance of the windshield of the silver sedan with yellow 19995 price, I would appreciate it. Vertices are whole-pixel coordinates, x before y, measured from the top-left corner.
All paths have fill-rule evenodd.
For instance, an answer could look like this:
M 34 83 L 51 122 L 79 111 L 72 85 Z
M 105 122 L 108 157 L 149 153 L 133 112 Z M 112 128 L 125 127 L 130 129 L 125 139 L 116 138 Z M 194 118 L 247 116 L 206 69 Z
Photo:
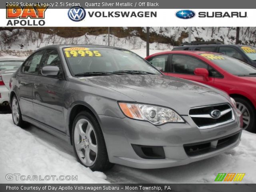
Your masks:
M 74 75 L 107 74 L 160 74 L 144 59 L 133 52 L 117 48 L 68 47 L 63 48 L 70 70 Z M 96 74 L 96 72 L 99 72 Z

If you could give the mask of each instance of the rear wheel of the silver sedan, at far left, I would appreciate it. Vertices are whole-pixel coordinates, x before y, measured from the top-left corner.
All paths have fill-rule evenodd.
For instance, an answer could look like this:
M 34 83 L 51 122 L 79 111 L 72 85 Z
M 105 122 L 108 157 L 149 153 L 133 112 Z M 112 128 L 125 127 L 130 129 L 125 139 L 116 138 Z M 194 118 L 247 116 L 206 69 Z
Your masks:
M 12 110 L 13 123 L 21 128 L 26 128 L 28 126 L 28 123 L 22 120 L 22 114 L 20 112 L 20 104 L 15 95 L 12 97 L 11 110 Z

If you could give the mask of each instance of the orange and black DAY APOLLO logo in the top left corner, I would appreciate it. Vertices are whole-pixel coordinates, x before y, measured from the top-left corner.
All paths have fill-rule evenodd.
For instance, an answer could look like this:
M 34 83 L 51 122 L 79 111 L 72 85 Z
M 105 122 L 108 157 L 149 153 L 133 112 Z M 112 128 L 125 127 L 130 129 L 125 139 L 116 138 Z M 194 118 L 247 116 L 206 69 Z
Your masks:
M 18 4 L 6 6 L 6 18 L 10 19 L 7 26 L 44 26 L 47 8 L 48 6 L 39 6 L 36 3 L 23 7 Z

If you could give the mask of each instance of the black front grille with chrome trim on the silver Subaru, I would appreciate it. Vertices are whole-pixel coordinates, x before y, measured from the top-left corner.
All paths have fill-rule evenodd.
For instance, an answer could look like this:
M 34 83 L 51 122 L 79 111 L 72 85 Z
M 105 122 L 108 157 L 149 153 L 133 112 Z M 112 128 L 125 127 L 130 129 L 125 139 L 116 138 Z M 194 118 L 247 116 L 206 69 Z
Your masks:
M 219 113 L 218 117 L 212 114 L 216 111 Z M 200 129 L 213 128 L 234 120 L 234 113 L 229 104 L 192 108 L 189 110 L 189 116 Z

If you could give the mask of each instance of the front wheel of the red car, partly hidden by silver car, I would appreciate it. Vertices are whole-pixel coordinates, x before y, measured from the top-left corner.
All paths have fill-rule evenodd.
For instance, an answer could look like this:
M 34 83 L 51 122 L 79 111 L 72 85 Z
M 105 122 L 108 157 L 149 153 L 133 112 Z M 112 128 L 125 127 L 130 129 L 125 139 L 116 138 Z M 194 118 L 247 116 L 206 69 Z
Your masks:
M 256 125 L 256 111 L 254 106 L 248 100 L 240 97 L 233 97 L 236 101 L 236 107 L 242 112 L 243 115 L 243 129 L 249 132 L 255 132 Z

